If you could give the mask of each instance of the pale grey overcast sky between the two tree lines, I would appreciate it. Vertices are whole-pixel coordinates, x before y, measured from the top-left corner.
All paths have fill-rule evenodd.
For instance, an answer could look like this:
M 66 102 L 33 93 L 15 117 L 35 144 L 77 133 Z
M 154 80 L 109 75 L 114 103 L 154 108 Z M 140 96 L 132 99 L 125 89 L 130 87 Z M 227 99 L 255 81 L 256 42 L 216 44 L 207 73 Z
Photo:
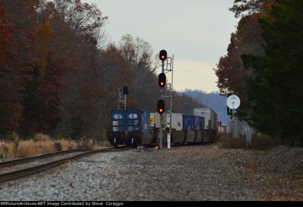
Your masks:
M 174 54 L 173 88 L 217 91 L 212 68 L 227 54 L 238 20 L 228 10 L 234 0 L 81 0 L 108 16 L 112 41 L 132 34 L 149 42 L 155 53 Z M 160 73 L 159 69 L 159 73 Z M 171 82 L 171 72 L 166 73 Z

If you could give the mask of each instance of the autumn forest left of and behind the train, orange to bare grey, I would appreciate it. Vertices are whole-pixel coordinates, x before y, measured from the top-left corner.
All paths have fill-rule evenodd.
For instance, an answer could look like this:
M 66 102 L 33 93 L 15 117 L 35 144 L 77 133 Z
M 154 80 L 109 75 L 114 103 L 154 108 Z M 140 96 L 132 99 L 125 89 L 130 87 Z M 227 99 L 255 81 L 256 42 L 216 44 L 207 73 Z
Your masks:
M 129 109 L 156 111 L 157 52 L 132 34 L 111 42 L 107 23 L 80 0 L 0 0 L 0 134 L 98 138 L 125 85 Z M 195 107 L 173 91 L 173 112 Z

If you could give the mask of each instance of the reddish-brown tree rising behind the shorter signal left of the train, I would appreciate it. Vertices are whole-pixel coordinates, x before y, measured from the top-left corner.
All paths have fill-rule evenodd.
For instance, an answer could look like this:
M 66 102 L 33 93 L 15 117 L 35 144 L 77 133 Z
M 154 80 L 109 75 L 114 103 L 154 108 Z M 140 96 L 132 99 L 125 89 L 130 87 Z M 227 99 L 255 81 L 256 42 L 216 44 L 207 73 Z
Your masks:
M 111 110 L 118 109 L 118 89 L 122 92 L 123 86 L 129 86 L 132 78 L 125 66 L 125 59 L 122 51 L 114 44 L 109 44 L 107 50 L 100 55 L 99 67 L 96 70 L 96 79 L 102 82 L 104 96 L 95 102 L 94 134 L 102 134 L 104 127 L 111 125 Z M 122 109 L 120 103 L 120 109 Z M 132 92 L 127 96 L 128 108 L 136 108 L 138 103 L 135 101 Z

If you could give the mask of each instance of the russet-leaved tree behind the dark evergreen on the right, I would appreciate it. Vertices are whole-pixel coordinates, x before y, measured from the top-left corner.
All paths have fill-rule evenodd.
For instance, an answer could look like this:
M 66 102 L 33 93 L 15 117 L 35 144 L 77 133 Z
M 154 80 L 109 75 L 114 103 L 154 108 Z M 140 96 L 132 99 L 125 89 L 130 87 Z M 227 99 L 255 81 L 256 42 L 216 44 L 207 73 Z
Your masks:
M 266 15 L 273 0 L 235 0 L 230 11 L 240 18 L 237 31 L 231 33 L 230 44 L 227 48 L 227 55 L 220 57 L 217 68 L 214 68 L 218 77 L 217 86 L 222 95 L 238 92 L 241 99 L 245 99 L 243 90 L 245 85 L 244 77 L 251 75 L 252 71 L 243 67 L 241 54 L 262 55 L 263 38 L 257 18 Z

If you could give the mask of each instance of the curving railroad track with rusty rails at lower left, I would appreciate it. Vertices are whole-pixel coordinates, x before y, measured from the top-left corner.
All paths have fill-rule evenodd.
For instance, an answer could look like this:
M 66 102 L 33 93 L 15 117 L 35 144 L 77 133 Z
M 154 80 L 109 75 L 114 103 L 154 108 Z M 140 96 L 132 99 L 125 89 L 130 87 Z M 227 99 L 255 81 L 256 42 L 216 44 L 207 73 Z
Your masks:
M 8 166 L 12 166 L 12 165 L 17 165 L 17 164 L 21 164 L 21 163 L 35 161 L 35 160 L 38 160 L 38 159 L 44 159 L 44 158 L 47 158 L 47 157 L 58 156 L 58 155 L 68 154 L 68 153 L 82 152 L 80 154 L 76 154 L 76 155 L 73 155 L 73 156 L 70 156 L 70 157 L 65 157 L 65 158 L 62 158 L 62 159 L 53 160 L 53 161 L 38 164 L 38 165 L 35 165 L 35 166 L 25 167 L 25 168 L 22 168 L 22 169 L 12 170 L 12 171 L 8 171 L 8 172 L 5 172 L 5 173 L 1 173 L 0 174 L 0 182 L 3 182 L 5 180 L 12 180 L 14 178 L 22 177 L 22 176 L 33 174 L 33 173 L 36 173 L 36 172 L 40 172 L 42 170 L 46 170 L 48 168 L 55 167 L 57 165 L 60 165 L 60 164 L 66 163 L 66 162 L 70 162 L 72 160 L 76 160 L 78 158 L 85 157 L 85 156 L 88 156 L 88 155 L 91 155 L 91 154 L 103 153 L 103 152 L 119 152 L 119 151 L 124 151 L 124 150 L 129 150 L 129 149 L 132 149 L 132 148 L 130 148 L 130 147 L 128 147 L 128 148 L 121 147 L 121 148 L 118 148 L 118 149 L 105 148 L 105 149 L 98 149 L 98 150 L 89 150 L 89 149 L 64 150 L 64 151 L 58 151 L 58 152 L 53 152 L 53 153 L 48 153 L 48 154 L 42 154 L 42 155 L 38 155 L 38 156 L 34 156 L 34 157 L 25 157 L 25 158 L 21 158 L 21 159 L 8 160 L 8 161 L 0 162 L 0 168 L 2 168 L 2 167 L 8 167 Z

